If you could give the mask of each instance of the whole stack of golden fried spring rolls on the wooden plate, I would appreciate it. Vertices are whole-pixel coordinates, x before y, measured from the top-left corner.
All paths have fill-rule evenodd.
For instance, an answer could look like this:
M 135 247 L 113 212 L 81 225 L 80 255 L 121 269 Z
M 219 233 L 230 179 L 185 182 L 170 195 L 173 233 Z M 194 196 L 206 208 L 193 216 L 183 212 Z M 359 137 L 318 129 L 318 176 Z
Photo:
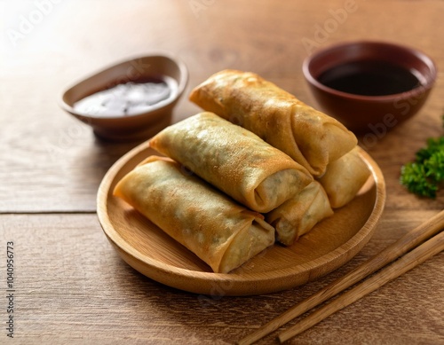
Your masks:
M 221 71 L 190 100 L 204 112 L 153 137 L 163 156 L 114 193 L 214 272 L 291 246 L 369 178 L 351 131 L 258 74 Z

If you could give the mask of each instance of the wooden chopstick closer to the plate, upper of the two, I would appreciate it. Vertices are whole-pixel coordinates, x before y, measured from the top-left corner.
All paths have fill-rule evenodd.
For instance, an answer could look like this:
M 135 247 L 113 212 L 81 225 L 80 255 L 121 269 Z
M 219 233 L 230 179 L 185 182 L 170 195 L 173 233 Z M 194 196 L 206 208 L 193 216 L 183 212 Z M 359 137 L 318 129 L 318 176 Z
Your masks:
M 274 318 L 266 325 L 263 325 L 258 331 L 247 335 L 241 341 L 238 341 L 238 344 L 248 345 L 262 339 L 269 333 L 280 328 L 281 325 L 285 325 L 293 318 L 297 318 L 304 314 L 305 311 L 311 310 L 322 302 L 329 300 L 329 298 L 334 295 L 344 291 L 346 288 L 353 286 L 353 284 L 361 279 L 368 277 L 386 264 L 391 263 L 393 260 L 400 257 L 400 255 L 406 254 L 409 250 L 424 242 L 424 240 L 430 239 L 433 235 L 441 231 L 442 228 L 444 228 L 444 210 L 436 216 L 433 216 L 427 222 L 420 224 L 414 230 L 409 231 L 391 246 L 386 247 L 379 254 L 370 258 L 366 263 L 361 264 L 361 266 L 354 271 L 342 278 L 338 278 L 329 286 L 324 287 L 319 292 L 313 294 L 304 301 L 299 302 L 297 305 L 281 314 L 278 318 Z

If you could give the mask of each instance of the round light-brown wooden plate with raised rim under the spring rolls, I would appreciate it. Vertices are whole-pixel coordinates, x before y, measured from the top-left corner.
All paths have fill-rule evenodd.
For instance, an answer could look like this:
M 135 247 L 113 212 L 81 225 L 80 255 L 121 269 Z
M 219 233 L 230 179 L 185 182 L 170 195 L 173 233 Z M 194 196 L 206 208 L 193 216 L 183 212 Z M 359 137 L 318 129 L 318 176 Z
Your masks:
M 155 154 L 147 143 L 109 169 L 98 192 L 98 216 L 107 239 L 135 270 L 167 286 L 196 294 L 266 294 L 300 286 L 336 270 L 369 241 L 385 206 L 384 176 L 368 153 L 372 174 L 358 196 L 318 223 L 291 247 L 274 245 L 230 273 L 214 273 L 186 247 L 113 197 L 115 184 L 140 161 Z

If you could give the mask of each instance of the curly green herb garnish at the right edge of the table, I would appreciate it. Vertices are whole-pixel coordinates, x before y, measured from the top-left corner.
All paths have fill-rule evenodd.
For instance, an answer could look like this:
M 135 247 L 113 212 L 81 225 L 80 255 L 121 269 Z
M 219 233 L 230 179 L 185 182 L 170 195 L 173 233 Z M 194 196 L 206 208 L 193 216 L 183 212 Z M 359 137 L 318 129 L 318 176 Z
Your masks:
M 431 137 L 427 139 L 427 145 L 416 153 L 415 161 L 401 167 L 400 184 L 405 185 L 409 192 L 434 199 L 443 182 L 444 137 Z

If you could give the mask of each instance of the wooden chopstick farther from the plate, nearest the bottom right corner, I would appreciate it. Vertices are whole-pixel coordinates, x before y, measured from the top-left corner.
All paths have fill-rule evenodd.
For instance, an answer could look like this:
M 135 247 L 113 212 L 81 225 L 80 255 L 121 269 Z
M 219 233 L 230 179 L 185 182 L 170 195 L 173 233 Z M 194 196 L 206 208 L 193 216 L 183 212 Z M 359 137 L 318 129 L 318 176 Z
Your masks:
M 402 256 L 383 271 L 377 272 L 377 274 L 363 281 L 360 285 L 353 287 L 353 289 L 337 297 L 333 302 L 325 305 L 320 310 L 314 311 L 313 314 L 309 315 L 307 318 L 304 318 L 296 325 L 293 325 L 288 330 L 280 333 L 279 341 L 288 341 L 293 336 L 320 323 L 324 318 L 328 318 L 331 314 L 337 312 L 337 310 L 341 310 L 353 302 L 358 301 L 362 296 L 370 294 L 377 288 L 385 285 L 385 283 L 388 283 L 392 279 L 398 278 L 401 274 L 413 269 L 418 264 L 424 263 L 425 260 L 433 255 L 437 255 L 442 250 L 444 250 L 444 232 L 440 232 L 440 234 Z

